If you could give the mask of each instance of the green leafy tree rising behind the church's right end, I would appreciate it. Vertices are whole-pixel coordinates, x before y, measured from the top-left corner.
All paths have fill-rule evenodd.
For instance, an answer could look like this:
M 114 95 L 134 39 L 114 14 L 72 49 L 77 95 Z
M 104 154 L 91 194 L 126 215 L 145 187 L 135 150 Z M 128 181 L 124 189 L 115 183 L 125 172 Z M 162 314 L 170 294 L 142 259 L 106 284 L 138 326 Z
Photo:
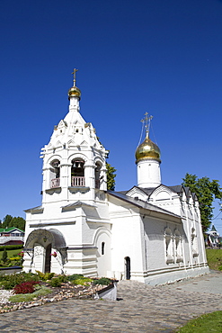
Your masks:
M 215 199 L 222 199 L 222 188 L 218 180 L 210 180 L 208 177 L 198 178 L 197 175 L 186 174 L 182 178 L 182 184 L 190 187 L 191 193 L 196 193 L 200 203 L 200 216 L 203 232 L 209 229 L 213 217 L 213 202 Z

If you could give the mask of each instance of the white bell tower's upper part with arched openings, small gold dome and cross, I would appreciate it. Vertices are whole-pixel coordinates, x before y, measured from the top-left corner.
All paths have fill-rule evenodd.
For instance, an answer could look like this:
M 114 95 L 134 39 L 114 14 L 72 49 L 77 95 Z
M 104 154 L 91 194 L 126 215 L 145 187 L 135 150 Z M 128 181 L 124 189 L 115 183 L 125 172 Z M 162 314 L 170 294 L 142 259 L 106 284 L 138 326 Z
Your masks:
M 42 205 L 49 202 L 91 202 L 98 191 L 106 191 L 107 151 L 99 142 L 92 123 L 80 114 L 81 91 L 68 90 L 66 117 L 54 127 L 43 158 Z

